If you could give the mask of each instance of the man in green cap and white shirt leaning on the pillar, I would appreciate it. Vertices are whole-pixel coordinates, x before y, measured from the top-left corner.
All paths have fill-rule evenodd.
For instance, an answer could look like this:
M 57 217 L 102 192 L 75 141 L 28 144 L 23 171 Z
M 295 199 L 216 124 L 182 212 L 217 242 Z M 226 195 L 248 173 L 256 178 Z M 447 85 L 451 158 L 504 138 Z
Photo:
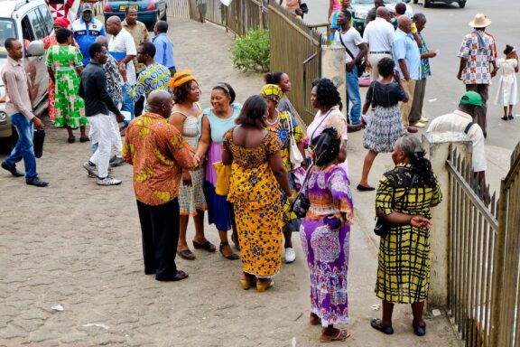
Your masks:
M 478 191 L 484 202 L 489 202 L 489 193 L 486 187 L 486 152 L 484 148 L 484 133 L 475 122 L 476 110 L 482 109 L 482 97 L 476 91 L 467 91 L 460 98 L 459 109 L 436 117 L 432 120 L 427 132 L 442 133 L 447 131 L 463 132 L 472 142 L 471 170 L 478 183 Z

